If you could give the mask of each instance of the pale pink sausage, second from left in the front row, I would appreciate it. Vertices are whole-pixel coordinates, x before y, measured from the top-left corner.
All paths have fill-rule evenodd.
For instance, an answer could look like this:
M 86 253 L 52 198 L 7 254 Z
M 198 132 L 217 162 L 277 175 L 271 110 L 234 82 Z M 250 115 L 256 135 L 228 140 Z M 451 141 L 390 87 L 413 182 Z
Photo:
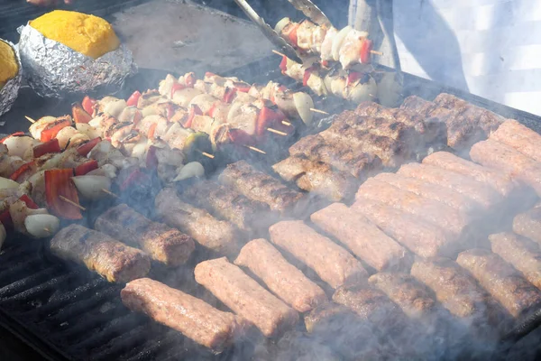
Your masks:
M 196 281 L 266 337 L 279 336 L 298 322 L 298 313 L 262 288 L 225 257 L 197 264 Z

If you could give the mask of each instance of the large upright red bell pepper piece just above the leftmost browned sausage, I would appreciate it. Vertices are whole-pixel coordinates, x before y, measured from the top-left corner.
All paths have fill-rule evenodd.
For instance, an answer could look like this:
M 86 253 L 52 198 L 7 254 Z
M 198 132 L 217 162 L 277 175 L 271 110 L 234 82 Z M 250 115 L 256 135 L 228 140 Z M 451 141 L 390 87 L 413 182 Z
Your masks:
M 60 196 L 78 204 L 78 193 L 73 184 L 72 169 L 55 169 L 45 171 L 45 199 L 51 213 L 57 217 L 66 219 L 81 219 L 81 210 L 71 203 L 63 200 Z

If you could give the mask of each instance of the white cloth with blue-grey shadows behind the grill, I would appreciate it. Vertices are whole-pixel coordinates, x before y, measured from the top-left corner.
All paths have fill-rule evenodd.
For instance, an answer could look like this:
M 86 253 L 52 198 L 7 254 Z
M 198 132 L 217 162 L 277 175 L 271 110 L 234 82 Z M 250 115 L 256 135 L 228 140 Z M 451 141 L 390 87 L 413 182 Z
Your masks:
M 393 15 L 402 70 L 541 116 L 541 1 L 394 0 Z

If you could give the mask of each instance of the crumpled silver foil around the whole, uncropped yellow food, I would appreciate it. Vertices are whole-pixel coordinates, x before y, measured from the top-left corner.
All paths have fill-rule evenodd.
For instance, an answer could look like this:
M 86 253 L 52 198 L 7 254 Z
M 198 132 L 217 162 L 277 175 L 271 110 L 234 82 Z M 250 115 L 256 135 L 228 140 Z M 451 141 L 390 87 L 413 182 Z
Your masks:
M 30 24 L 18 29 L 24 77 L 41 97 L 67 97 L 69 93 L 114 94 L 124 79 L 137 72 L 132 51 L 123 44 L 92 59 L 60 42 L 44 37 Z

